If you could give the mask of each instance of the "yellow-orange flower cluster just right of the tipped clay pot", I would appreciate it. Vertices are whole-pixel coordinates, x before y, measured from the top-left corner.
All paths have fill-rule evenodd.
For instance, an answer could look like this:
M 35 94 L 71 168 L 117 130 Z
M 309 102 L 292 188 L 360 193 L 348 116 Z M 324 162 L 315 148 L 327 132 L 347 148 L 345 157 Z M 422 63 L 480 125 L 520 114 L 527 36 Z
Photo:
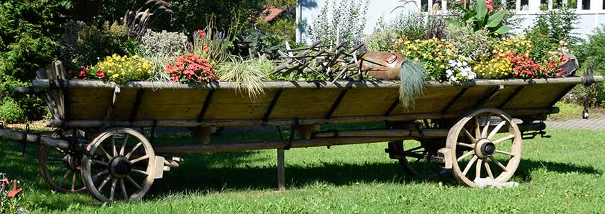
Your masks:
M 441 39 L 399 40 L 395 50 L 406 59 L 424 62 L 426 79 L 443 79 L 449 61 L 458 59 L 455 47 Z

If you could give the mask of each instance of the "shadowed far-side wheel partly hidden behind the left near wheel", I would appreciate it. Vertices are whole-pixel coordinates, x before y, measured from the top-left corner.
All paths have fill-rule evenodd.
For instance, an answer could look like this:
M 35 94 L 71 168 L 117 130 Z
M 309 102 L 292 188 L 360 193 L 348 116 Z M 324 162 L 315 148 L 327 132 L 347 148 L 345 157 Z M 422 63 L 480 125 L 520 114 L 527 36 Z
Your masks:
M 85 140 L 83 130 L 55 130 L 50 137 Z M 80 177 L 82 155 L 69 153 L 61 148 L 42 145 L 38 153 L 40 174 L 46 185 L 55 191 L 81 193 L 86 189 Z

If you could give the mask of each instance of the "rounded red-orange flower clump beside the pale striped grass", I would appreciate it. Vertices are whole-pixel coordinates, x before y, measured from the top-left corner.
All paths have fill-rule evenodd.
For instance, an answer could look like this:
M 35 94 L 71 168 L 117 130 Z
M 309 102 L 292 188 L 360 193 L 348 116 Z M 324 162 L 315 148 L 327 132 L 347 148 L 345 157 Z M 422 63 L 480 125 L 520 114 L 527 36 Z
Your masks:
M 195 83 L 216 80 L 212 68 L 204 57 L 188 53 L 166 64 L 165 72 L 174 82 Z

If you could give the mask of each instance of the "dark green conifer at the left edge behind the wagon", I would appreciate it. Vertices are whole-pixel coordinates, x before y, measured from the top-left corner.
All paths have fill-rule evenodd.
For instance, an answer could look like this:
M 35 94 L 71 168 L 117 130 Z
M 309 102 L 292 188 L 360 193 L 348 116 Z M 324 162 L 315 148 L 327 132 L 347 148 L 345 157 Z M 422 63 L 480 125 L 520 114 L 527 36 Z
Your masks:
M 35 78 L 35 70 L 58 55 L 63 26 L 71 16 L 71 2 L 62 0 L 0 3 L 0 97 L 13 96 L 12 88 Z M 26 112 L 44 108 L 24 106 L 37 98 L 15 97 Z M 28 99 L 24 101 L 23 99 Z M 32 115 L 29 119 L 39 119 Z

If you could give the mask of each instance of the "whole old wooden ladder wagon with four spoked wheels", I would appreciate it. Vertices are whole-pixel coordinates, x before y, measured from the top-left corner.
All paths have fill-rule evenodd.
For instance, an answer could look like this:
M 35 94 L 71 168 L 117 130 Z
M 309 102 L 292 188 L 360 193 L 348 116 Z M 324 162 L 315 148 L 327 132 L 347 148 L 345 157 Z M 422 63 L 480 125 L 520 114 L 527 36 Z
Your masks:
M 406 109 L 397 81 L 269 81 L 266 94 L 251 100 L 231 82 L 117 85 L 45 77 L 16 90 L 42 93 L 54 117 L 47 125 L 57 130 L 40 136 L 0 129 L 0 138 L 42 144 L 39 166 L 49 186 L 88 191 L 103 202 L 143 197 L 163 171 L 179 166 L 181 159 L 170 155 L 276 149 L 283 188 L 284 150 L 378 142 L 389 142 L 389 157 L 413 175 L 451 171 L 472 187 L 478 177 L 507 182 L 521 162 L 522 139 L 543 133 L 541 121 L 558 112 L 554 104 L 578 84 L 605 81 L 600 76 L 426 81 L 424 95 Z M 319 130 L 323 124 L 378 121 L 386 128 Z M 300 139 L 210 142 L 216 128 L 235 126 L 291 126 Z M 154 145 L 156 127 L 190 128 L 201 140 Z M 141 128 L 151 128 L 150 136 Z M 420 144 L 410 148 L 406 139 Z M 49 167 L 57 163 L 58 169 Z

